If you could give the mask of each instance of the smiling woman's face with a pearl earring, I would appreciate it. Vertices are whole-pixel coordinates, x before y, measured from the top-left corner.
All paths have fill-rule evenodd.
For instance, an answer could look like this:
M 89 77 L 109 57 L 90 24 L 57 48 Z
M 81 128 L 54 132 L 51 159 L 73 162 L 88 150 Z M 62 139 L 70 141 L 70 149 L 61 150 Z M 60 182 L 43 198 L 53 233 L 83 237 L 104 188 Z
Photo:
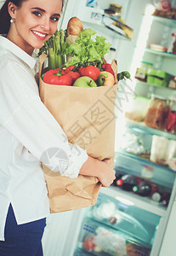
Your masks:
M 9 11 L 14 22 L 8 38 L 31 55 L 34 48 L 40 49 L 56 32 L 61 9 L 61 0 L 26 0 L 20 8 L 14 5 L 13 12 Z

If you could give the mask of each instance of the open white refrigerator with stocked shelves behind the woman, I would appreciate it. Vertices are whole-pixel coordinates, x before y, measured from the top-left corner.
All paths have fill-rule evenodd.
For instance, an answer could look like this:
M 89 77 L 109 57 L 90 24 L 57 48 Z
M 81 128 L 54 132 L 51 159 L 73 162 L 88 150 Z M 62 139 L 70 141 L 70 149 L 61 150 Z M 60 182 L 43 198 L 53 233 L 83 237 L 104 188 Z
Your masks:
M 169 197 L 167 203 L 163 204 L 157 196 L 152 198 L 151 194 L 139 195 L 132 189 L 122 189 L 122 186 L 117 186 L 116 183 L 110 188 L 101 188 L 94 207 L 54 213 L 48 217 L 43 236 L 44 256 L 173 256 L 174 242 L 172 247 L 168 248 L 167 241 L 169 234 L 173 234 L 172 222 L 176 211 L 175 172 L 166 164 L 151 160 L 149 154 L 153 137 L 173 141 L 174 148 L 176 134 L 175 131 L 167 132 L 166 129 L 147 126 L 141 120 L 127 119 L 126 113 L 133 96 L 137 99 L 137 105 L 133 104 L 134 113 L 136 109 L 140 109 L 143 114 L 146 99 L 152 94 L 162 98 L 176 96 L 174 89 L 134 79 L 141 61 L 152 61 L 156 69 L 176 75 L 176 55 L 149 48 L 151 43 L 158 44 L 161 41 L 169 47 L 168 38 L 173 31 L 176 32 L 176 20 L 151 16 L 153 1 L 150 0 L 96 2 L 99 6 L 91 8 L 87 6 L 87 0 L 65 1 L 60 27 L 65 29 L 68 20 L 77 16 L 85 28 L 95 29 L 112 44 L 118 72 L 128 70 L 131 73 L 133 81 L 119 83 L 116 98 L 116 176 L 120 175 L 119 179 L 125 175 L 136 177 L 136 185 L 141 180 L 146 181 L 156 189 L 153 194 L 156 192 L 156 195 L 166 194 Z M 128 28 L 128 32 L 121 26 L 111 26 L 109 16 L 110 20 L 102 21 L 104 10 L 108 9 L 111 3 L 122 6 L 122 20 L 125 20 L 126 24 L 123 28 Z M 172 3 L 175 6 L 175 1 Z M 105 23 L 106 21 L 109 23 Z M 133 143 L 135 147 L 132 147 Z M 164 153 L 162 148 L 165 148 Z M 162 148 L 158 149 L 159 155 L 167 155 L 168 144 L 163 143 Z M 174 154 L 173 150 L 172 156 Z

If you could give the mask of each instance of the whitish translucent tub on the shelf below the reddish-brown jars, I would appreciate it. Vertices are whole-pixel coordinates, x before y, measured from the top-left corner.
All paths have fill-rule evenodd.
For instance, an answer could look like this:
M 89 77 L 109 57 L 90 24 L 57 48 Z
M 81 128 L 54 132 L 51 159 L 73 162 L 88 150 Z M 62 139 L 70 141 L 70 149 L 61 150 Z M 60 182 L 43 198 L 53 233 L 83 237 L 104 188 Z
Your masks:
M 167 166 L 168 160 L 172 159 L 176 152 L 176 141 L 165 137 L 153 135 L 150 160 L 157 165 Z

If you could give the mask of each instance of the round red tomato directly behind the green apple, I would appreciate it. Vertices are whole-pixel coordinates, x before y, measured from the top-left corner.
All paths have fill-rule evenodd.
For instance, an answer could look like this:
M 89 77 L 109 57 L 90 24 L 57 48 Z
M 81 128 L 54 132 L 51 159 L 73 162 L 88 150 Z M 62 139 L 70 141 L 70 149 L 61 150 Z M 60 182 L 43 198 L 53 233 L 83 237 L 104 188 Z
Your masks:
M 87 67 L 80 67 L 79 73 L 82 77 L 89 77 L 96 81 L 99 78 L 100 70 L 98 67 L 94 67 L 93 65 L 88 65 Z

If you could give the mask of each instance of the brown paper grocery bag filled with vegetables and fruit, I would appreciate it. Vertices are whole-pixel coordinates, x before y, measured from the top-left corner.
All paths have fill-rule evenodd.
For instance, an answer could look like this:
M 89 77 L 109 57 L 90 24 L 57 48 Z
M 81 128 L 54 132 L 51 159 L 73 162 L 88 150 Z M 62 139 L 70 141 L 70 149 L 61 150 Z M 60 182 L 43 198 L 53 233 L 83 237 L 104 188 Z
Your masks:
M 45 58 L 46 55 L 41 55 L 39 67 L 39 90 L 44 105 L 65 131 L 70 143 L 86 149 L 88 155 L 99 160 L 113 159 L 117 83 L 92 88 L 46 84 L 40 77 Z M 117 73 L 116 63 L 113 65 Z M 43 166 L 43 170 L 50 212 L 65 212 L 95 204 L 101 187 L 98 178 L 64 177 L 47 166 Z

